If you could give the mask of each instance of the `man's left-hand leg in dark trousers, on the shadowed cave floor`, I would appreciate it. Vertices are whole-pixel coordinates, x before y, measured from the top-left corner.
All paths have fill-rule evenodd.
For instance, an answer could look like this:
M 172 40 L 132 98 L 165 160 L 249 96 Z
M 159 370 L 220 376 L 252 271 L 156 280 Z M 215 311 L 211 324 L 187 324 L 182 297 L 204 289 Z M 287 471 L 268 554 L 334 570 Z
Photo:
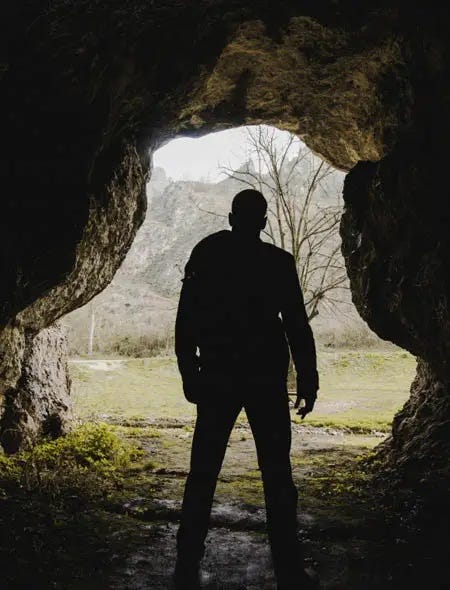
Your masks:
M 177 534 L 178 566 L 195 567 L 203 556 L 217 477 L 241 408 L 223 398 L 197 404 L 191 467 Z

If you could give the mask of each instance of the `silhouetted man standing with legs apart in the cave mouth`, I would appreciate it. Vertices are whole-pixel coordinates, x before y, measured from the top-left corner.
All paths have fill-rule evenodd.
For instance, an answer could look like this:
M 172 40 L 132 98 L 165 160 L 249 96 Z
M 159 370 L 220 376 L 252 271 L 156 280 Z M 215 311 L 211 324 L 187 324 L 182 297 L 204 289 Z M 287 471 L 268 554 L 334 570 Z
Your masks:
M 197 404 L 191 467 L 177 535 L 177 588 L 199 588 L 199 563 L 227 442 L 242 408 L 264 484 L 267 529 L 279 590 L 309 588 L 297 539 L 290 464 L 289 348 L 299 414 L 318 390 L 316 351 L 294 258 L 263 242 L 267 201 L 238 193 L 229 222 L 202 240 L 186 265 L 175 349 L 186 398 Z M 288 346 L 289 345 L 289 346 Z

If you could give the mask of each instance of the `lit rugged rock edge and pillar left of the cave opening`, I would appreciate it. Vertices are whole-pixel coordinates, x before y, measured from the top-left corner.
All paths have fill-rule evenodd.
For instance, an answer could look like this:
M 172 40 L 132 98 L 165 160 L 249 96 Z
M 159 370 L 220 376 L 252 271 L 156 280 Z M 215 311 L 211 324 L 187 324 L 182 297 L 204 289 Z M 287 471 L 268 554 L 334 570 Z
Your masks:
M 145 214 L 145 178 L 136 150 L 128 147 L 106 187 L 107 202 L 91 199 L 70 272 L 0 330 L 0 441 L 7 452 L 29 446 L 43 433 L 67 430 L 70 381 L 67 368 L 59 370 L 61 363 L 66 367 L 67 346 L 63 328 L 56 330 L 53 322 L 112 280 Z

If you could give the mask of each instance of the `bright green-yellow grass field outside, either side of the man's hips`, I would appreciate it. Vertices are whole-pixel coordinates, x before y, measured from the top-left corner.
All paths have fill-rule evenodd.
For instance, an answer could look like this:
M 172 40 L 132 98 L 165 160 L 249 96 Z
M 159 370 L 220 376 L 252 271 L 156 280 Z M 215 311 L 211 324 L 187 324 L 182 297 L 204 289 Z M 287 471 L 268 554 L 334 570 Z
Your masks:
M 72 361 L 75 410 L 82 420 L 141 425 L 180 423 L 195 406 L 185 401 L 175 359 Z M 389 430 L 409 395 L 415 359 L 401 350 L 319 351 L 320 392 L 315 411 L 295 422 L 350 432 Z M 242 418 L 241 418 L 242 419 Z

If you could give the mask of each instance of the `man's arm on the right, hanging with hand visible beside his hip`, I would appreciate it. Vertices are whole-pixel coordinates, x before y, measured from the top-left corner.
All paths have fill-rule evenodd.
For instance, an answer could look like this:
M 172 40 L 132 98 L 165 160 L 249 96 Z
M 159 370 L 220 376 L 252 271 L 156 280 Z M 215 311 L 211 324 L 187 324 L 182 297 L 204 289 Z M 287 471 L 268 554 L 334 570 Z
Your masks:
M 299 410 L 304 418 L 312 411 L 319 389 L 316 347 L 311 326 L 306 315 L 303 293 L 298 280 L 293 256 L 290 256 L 286 270 L 285 293 L 281 316 L 297 372 L 297 402 L 304 399 L 305 408 Z

